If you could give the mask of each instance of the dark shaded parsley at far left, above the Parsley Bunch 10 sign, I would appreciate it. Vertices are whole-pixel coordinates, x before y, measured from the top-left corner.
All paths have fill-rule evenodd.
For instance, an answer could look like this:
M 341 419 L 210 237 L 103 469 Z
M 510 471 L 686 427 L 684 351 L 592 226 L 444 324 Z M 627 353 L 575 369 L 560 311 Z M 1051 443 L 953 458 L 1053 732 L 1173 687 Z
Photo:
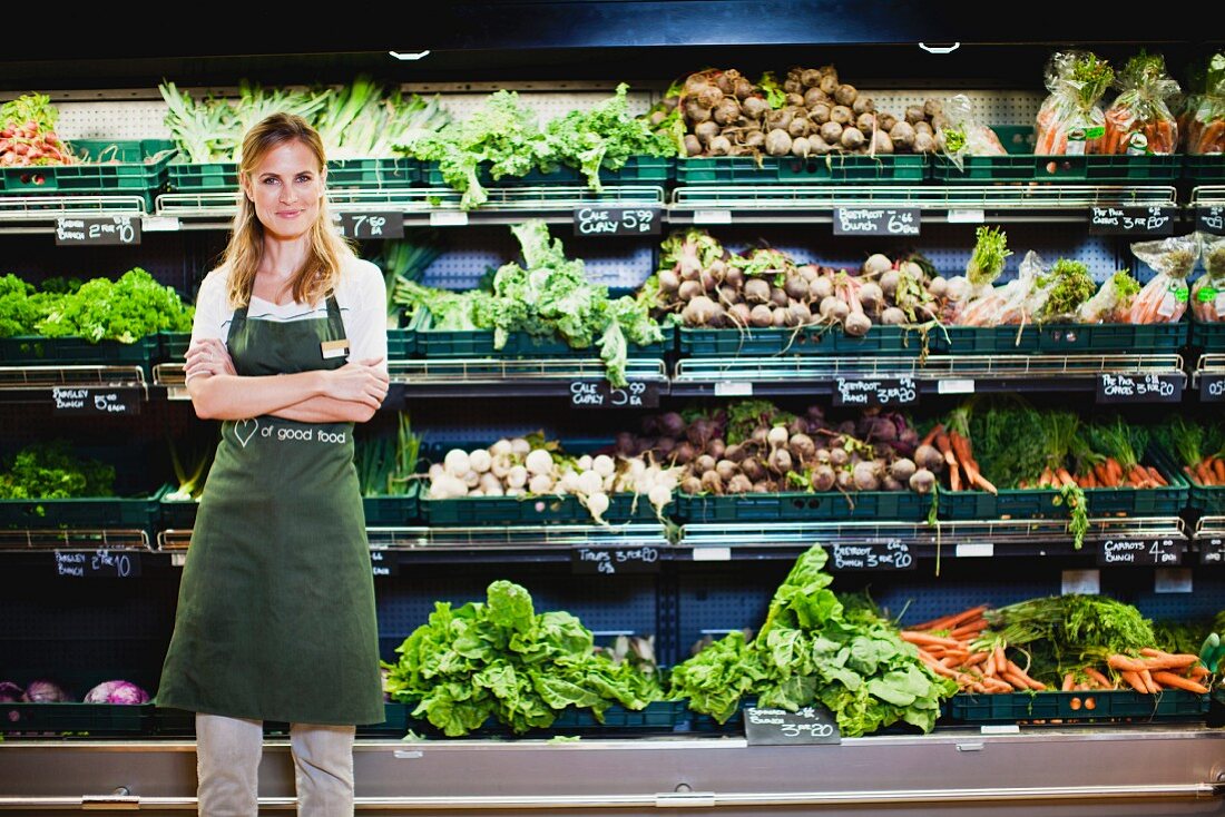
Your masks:
M 43 441 L 6 458 L 0 473 L 0 499 L 114 496 L 114 465 L 77 458 L 66 440 Z

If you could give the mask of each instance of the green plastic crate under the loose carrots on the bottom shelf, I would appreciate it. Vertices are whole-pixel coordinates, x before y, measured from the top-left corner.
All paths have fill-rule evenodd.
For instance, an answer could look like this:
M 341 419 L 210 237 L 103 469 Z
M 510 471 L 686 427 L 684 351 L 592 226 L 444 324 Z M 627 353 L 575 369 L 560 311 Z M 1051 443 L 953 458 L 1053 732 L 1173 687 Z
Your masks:
M 1098 692 L 958 693 L 948 704 L 952 720 L 970 724 L 1101 720 L 1200 720 L 1209 696 L 1183 690 L 1140 695 L 1132 690 Z

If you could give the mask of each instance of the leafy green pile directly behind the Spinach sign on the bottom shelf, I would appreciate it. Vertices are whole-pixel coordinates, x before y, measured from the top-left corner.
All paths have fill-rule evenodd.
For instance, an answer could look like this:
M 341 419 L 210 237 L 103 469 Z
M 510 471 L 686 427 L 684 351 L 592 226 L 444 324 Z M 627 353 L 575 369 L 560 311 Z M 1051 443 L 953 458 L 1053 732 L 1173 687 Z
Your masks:
M 826 551 L 802 554 L 774 593 L 766 623 L 752 641 L 731 632 L 671 672 L 671 692 L 695 712 L 720 723 L 746 695 L 758 703 L 795 710 L 827 707 L 845 736 L 865 735 L 897 721 L 931 731 L 940 702 L 957 685 L 919 660 L 862 597 L 845 603 L 829 588 Z

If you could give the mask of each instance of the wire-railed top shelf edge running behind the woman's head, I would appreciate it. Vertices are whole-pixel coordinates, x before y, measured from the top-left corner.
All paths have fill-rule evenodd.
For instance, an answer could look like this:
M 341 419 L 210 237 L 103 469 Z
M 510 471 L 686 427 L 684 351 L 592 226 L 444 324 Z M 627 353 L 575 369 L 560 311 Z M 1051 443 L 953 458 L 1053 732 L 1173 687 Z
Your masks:
M 463 227 L 514 224 L 526 217 L 570 223 L 573 211 L 592 205 L 662 207 L 664 189 L 647 185 L 486 187 L 489 200 L 475 209 L 462 209 L 463 194 L 451 187 L 396 187 L 387 190 L 330 190 L 332 212 L 399 211 L 405 227 Z M 158 216 L 178 217 L 183 229 L 229 229 L 234 192 L 174 192 L 157 197 Z

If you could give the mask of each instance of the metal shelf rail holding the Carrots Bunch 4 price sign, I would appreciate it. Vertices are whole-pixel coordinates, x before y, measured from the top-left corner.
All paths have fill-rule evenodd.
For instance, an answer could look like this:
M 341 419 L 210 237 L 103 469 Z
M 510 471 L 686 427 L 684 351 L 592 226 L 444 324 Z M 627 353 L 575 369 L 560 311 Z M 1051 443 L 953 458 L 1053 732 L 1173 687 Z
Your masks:
M 831 570 L 907 570 L 914 559 L 1034 557 L 1093 555 L 1107 541 L 1169 541 L 1186 549 L 1177 517 L 1089 519 L 1077 550 L 1067 521 L 991 519 L 974 522 L 815 522 L 771 524 L 686 524 L 675 559 L 729 561 L 795 559 L 813 544 L 829 549 Z M 839 552 L 842 550 L 843 552 Z M 898 562 L 882 555 L 905 554 Z M 869 556 L 871 554 L 871 556 Z M 866 563 L 860 563 L 867 560 Z M 839 562 L 843 562 L 842 565 Z

